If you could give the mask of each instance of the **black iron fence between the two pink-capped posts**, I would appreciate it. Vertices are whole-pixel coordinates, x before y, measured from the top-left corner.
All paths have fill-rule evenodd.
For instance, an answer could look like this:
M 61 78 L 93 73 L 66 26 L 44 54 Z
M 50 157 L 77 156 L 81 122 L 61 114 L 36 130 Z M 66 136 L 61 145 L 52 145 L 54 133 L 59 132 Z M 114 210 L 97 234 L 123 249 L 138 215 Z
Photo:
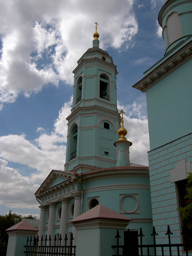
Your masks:
M 61 234 L 59 239 L 57 239 L 55 235 L 54 239 L 54 245 L 51 245 L 51 237 L 49 236 L 49 239 L 47 239 L 47 235 L 45 237 L 45 240 L 43 240 L 43 236 L 41 240 L 39 240 L 39 237 L 37 239 L 34 237 L 34 239 L 27 238 L 27 245 L 25 245 L 25 253 L 26 256 L 75 256 L 75 248 L 76 246 L 73 245 L 73 234 L 71 233 L 69 245 L 67 245 L 67 234 L 65 235 L 64 244 L 62 244 Z

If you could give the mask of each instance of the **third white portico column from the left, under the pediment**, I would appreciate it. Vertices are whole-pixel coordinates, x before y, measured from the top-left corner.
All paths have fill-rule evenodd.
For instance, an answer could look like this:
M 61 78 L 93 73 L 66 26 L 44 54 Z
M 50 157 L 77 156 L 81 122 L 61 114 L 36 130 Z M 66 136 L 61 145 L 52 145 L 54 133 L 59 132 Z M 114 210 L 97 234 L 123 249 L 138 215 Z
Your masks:
M 68 223 L 68 211 L 69 211 L 69 201 L 68 199 L 62 200 L 61 206 L 61 219 L 59 233 L 61 234 L 61 245 L 65 244 L 65 234 L 67 234 L 67 223 Z

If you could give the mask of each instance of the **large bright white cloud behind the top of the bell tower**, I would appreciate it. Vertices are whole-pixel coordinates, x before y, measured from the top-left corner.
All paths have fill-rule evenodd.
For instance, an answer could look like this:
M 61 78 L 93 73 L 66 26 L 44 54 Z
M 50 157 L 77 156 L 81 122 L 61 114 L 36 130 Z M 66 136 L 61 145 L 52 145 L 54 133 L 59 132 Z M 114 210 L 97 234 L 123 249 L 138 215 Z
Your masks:
M 72 84 L 76 56 L 92 47 L 96 20 L 103 48 L 128 48 L 138 31 L 132 4 L 132 0 L 121 0 L 121 4 L 118 0 L 110 4 L 102 0 L 4 1 L 0 101 L 14 102 L 19 93 L 29 97 L 48 83 L 57 86 L 59 80 Z

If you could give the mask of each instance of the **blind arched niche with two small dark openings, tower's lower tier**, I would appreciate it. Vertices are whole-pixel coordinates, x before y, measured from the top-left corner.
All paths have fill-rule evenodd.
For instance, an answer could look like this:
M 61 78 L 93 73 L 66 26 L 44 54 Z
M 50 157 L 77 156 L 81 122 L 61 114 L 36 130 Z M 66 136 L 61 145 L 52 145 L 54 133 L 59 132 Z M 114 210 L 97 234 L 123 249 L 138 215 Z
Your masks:
M 114 127 L 106 121 L 102 121 L 99 125 L 99 146 L 101 157 L 114 157 Z

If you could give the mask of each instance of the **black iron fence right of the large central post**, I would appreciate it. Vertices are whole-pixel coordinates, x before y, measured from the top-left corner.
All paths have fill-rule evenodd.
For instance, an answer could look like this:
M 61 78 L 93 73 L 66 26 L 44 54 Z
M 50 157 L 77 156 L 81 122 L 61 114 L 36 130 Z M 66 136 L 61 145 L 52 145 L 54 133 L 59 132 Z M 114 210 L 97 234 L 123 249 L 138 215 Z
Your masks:
M 128 229 L 128 232 L 130 230 Z M 140 232 L 138 234 L 139 241 L 137 245 L 133 245 L 127 241 L 127 243 L 124 245 L 119 245 L 120 243 L 120 236 L 119 236 L 119 230 L 117 230 L 117 245 L 112 245 L 112 248 L 116 250 L 116 254 L 113 254 L 112 256 L 157 256 L 158 255 L 178 255 L 180 256 L 180 251 L 185 252 L 188 256 L 188 248 L 189 245 L 186 243 L 180 243 L 180 244 L 172 244 L 171 243 L 171 236 L 173 233 L 171 232 L 169 226 L 167 226 L 167 232 L 165 233 L 166 236 L 168 236 L 168 243 L 167 244 L 156 244 L 156 236 L 158 236 L 158 233 L 156 233 L 155 228 L 153 227 L 153 233 L 151 236 L 153 236 L 153 244 L 143 244 L 142 238 L 144 237 L 144 234 L 142 232 L 142 229 L 140 228 Z M 173 254 L 174 252 L 174 254 Z M 183 255 L 183 254 L 182 254 Z

